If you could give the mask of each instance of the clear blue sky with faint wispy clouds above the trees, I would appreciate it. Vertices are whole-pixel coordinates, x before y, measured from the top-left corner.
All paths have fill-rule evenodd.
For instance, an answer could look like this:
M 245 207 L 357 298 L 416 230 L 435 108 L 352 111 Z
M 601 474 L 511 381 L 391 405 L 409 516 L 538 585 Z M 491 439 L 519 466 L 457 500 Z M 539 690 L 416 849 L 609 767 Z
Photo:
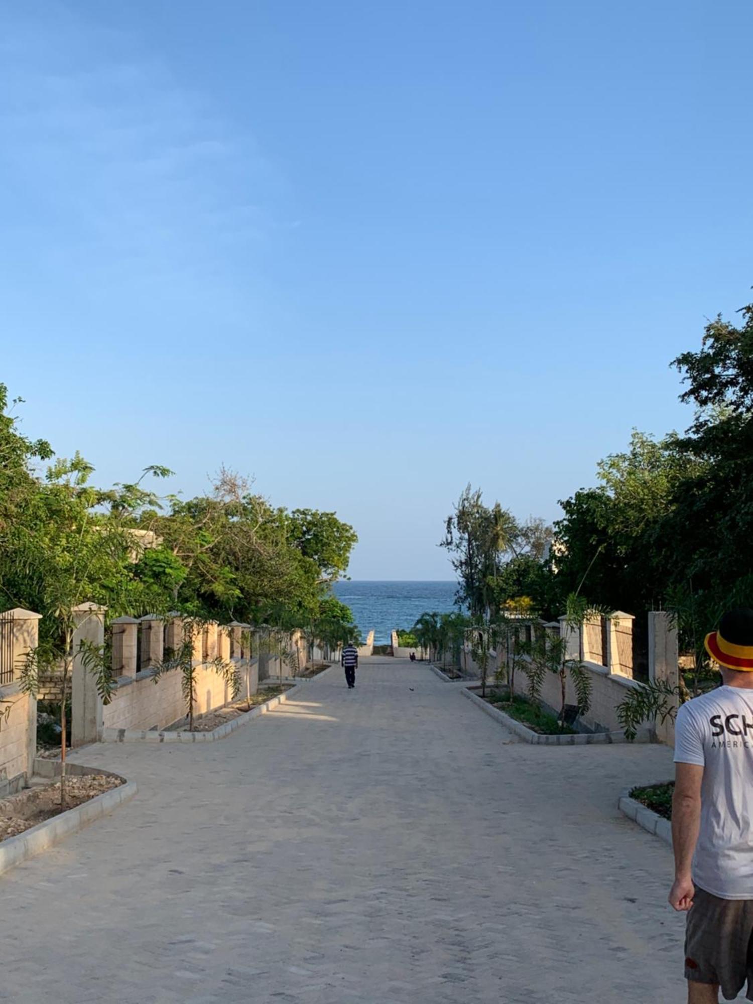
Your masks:
M 449 578 L 555 518 L 749 299 L 753 6 L 0 4 L 0 379 L 102 483 L 221 464 Z

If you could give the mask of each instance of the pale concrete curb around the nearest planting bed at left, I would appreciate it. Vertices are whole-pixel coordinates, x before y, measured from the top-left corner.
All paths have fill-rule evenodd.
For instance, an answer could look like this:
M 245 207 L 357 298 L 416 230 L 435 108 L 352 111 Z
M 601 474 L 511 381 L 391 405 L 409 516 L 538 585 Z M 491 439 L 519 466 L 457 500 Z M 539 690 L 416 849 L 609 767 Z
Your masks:
M 35 766 L 37 763 L 48 765 L 48 768 L 44 770 L 43 776 L 49 777 L 50 780 L 57 777 L 60 773 L 59 760 L 37 760 L 35 761 Z M 113 774 L 109 770 L 99 770 L 96 767 L 83 767 L 81 764 L 72 763 L 66 764 L 66 774 L 70 776 L 108 774 L 111 777 L 120 777 L 119 774 Z M 121 778 L 121 780 L 126 779 Z M 137 791 L 136 781 L 127 781 L 126 784 L 121 784 L 117 788 L 112 788 L 110 791 L 104 791 L 101 795 L 96 795 L 96 797 L 89 799 L 89 801 L 84 802 L 82 805 L 76 805 L 75 808 L 66 809 L 65 812 L 52 816 L 51 819 L 45 819 L 43 822 L 37 823 L 36 826 L 32 826 L 31 829 L 27 829 L 23 833 L 19 833 L 18 836 L 10 836 L 7 840 L 3 840 L 0 842 L 0 874 L 14 867 L 16 864 L 20 864 L 21 861 L 42 853 L 42 851 L 47 850 L 70 833 L 75 833 L 79 829 L 83 829 L 84 826 L 93 822 L 94 819 L 98 819 L 100 816 L 111 812 L 118 805 L 122 805 L 123 802 L 132 799 Z

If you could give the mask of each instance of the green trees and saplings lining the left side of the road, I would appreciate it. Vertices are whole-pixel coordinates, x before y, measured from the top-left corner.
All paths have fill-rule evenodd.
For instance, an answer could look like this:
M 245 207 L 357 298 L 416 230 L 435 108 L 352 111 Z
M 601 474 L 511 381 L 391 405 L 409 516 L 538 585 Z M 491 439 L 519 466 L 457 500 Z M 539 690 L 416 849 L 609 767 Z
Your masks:
M 192 636 L 208 621 L 268 634 L 299 630 L 309 654 L 316 643 L 336 649 L 358 640 L 351 611 L 331 590 L 357 539 L 335 513 L 275 507 L 222 466 L 206 493 L 191 499 L 157 490 L 173 475 L 160 464 L 98 485 L 80 454 L 59 458 L 46 440 L 23 435 L 21 404 L 0 385 L 0 593 L 2 609 L 42 614 L 39 644 L 15 672 L 31 694 L 45 675 L 59 678 L 54 731 L 63 762 L 74 662 L 94 675 L 105 703 L 112 690 L 108 645 L 73 651 L 81 603 L 105 606 L 107 621 L 177 614 L 188 618 Z M 190 719 L 192 657 L 187 644 L 157 667 L 158 676 L 182 674 Z M 233 667 L 215 664 L 236 694 Z M 8 710 L 0 705 L 0 728 Z M 63 801 L 65 783 L 63 774 Z

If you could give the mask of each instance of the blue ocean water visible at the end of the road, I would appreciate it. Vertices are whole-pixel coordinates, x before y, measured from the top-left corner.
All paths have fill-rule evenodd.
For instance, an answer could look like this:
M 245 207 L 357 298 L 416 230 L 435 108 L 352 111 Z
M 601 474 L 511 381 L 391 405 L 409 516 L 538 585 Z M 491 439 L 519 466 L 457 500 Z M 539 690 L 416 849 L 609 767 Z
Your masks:
M 444 613 L 455 604 L 457 582 L 336 582 L 335 595 L 347 603 L 365 637 L 389 645 L 393 628 L 412 628 L 426 610 Z

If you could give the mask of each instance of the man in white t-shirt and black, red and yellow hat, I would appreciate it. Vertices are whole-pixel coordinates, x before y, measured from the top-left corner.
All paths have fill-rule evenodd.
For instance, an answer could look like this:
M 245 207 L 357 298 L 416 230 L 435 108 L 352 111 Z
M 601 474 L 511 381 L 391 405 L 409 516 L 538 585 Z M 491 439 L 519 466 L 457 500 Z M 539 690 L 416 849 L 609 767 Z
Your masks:
M 753 1001 L 753 609 L 725 613 L 706 649 L 722 686 L 682 706 L 675 730 L 670 903 L 688 911 L 689 1004 Z

